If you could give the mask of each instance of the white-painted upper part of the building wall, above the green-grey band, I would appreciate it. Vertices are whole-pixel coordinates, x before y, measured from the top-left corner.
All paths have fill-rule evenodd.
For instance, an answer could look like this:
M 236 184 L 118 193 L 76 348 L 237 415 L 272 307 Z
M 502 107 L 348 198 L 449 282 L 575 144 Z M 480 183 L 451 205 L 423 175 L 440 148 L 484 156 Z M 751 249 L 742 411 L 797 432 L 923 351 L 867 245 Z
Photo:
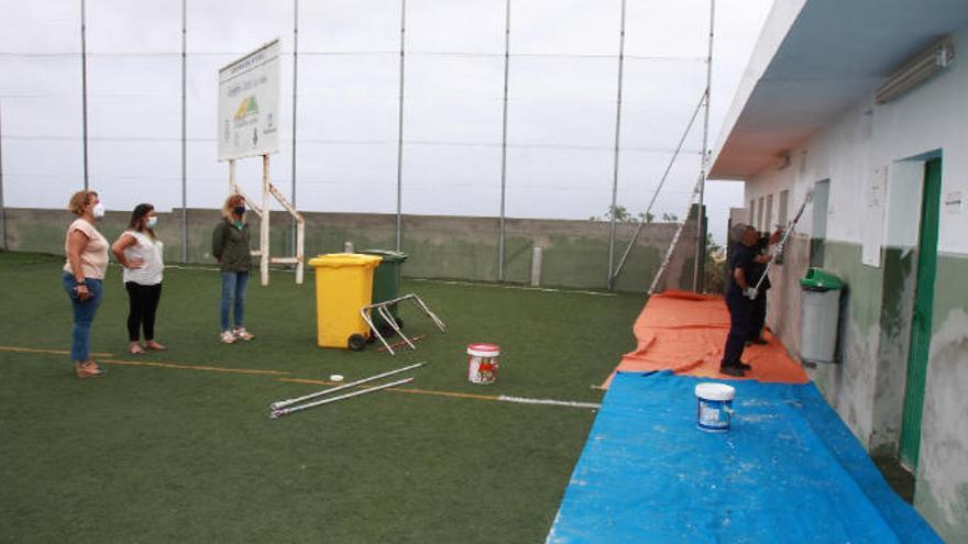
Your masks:
M 916 232 L 917 218 L 892 218 L 882 225 L 866 225 L 861 208 L 865 202 L 865 178 L 873 169 L 900 168 L 906 175 L 894 177 L 888 189 L 890 195 L 912 193 L 911 187 L 897 181 L 910 179 L 910 165 L 898 162 L 923 157 L 941 151 L 943 156 L 942 199 L 961 192 L 968 197 L 968 31 L 955 35 L 955 51 L 961 53 L 952 66 L 914 91 L 898 100 L 875 106 L 873 95 L 851 106 L 838 115 L 835 123 L 814 135 L 802 146 L 791 149 L 790 164 L 782 168 L 768 168 L 747 180 L 745 201 L 773 195 L 773 221 L 777 202 L 782 190 L 789 189 L 791 217 L 813 184 L 831 179 L 831 203 L 827 213 L 827 240 L 861 243 L 865 229 L 884 229 L 893 243 L 912 243 L 912 229 Z M 778 165 L 784 160 L 778 157 Z M 920 176 L 920 170 L 919 170 Z M 938 251 L 950 254 L 968 254 L 968 210 L 960 213 L 943 211 L 941 217 Z M 897 214 L 895 214 L 897 215 Z M 811 214 L 805 213 L 798 225 L 803 234 L 811 233 Z M 912 226 L 913 225 L 913 226 Z M 912 229 L 908 229 L 912 226 Z

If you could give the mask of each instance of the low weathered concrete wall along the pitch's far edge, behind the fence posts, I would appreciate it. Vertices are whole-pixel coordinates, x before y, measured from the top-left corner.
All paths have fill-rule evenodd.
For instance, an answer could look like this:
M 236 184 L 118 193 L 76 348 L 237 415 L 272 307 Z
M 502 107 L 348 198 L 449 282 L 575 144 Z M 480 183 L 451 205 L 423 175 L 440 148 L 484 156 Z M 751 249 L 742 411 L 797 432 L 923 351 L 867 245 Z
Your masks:
M 108 238 L 117 237 L 130 212 L 109 211 L 99 225 Z M 307 213 L 306 255 L 341 252 L 343 242 L 356 249 L 392 249 L 396 244 L 396 218 L 385 214 Z M 165 260 L 182 260 L 182 211 L 160 213 L 158 233 L 165 243 Z M 64 253 L 64 231 L 73 215 L 66 211 L 7 209 L 7 247 L 11 251 Z M 211 230 L 219 221 L 216 210 L 188 210 L 188 262 L 213 264 Z M 290 218 L 272 215 L 273 255 L 289 255 Z M 256 236 L 258 218 L 250 218 Z M 638 237 L 616 289 L 644 292 L 666 256 L 676 225 L 652 223 Z M 497 280 L 496 218 L 405 215 L 403 249 L 410 254 L 404 274 L 413 277 Z M 620 224 L 616 232 L 616 263 L 635 232 Z M 694 225 L 686 225 L 660 288 L 691 286 L 695 255 Z M 253 248 L 257 246 L 253 241 Z M 541 284 L 575 288 L 605 288 L 608 276 L 608 223 L 508 219 L 506 221 L 505 279 L 528 282 L 531 248 L 543 248 Z

